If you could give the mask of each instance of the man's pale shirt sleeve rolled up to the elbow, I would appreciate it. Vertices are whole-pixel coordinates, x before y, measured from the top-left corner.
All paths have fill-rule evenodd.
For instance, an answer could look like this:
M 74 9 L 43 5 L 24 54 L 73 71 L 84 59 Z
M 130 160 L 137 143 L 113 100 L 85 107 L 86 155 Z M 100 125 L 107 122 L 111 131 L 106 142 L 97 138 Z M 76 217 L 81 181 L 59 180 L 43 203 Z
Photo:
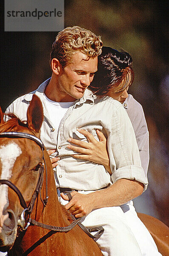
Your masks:
M 119 106 L 112 116 L 112 129 L 108 136 L 108 151 L 112 182 L 126 178 L 148 185 L 141 167 L 140 155 L 132 123 L 123 106 Z

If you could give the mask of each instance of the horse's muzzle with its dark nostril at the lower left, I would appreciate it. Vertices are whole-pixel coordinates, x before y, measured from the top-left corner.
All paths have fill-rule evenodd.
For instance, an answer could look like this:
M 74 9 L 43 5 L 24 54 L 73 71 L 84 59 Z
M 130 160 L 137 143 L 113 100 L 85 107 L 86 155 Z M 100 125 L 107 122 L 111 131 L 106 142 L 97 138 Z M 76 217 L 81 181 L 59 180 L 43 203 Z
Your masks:
M 8 251 L 14 244 L 17 235 L 17 221 L 14 212 L 7 210 L 8 218 L 5 219 L 0 233 L 0 251 Z

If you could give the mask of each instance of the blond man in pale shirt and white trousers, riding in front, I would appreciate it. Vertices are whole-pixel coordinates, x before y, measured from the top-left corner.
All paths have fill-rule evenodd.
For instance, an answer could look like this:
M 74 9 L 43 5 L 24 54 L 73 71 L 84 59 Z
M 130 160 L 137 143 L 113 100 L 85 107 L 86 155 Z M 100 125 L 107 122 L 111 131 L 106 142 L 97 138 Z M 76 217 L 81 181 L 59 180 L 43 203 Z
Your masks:
M 63 29 L 52 47 L 51 79 L 16 99 L 7 112 L 26 120 L 32 94 L 40 97 L 44 111 L 41 140 L 51 156 L 60 159 L 54 171 L 60 201 L 75 217 L 86 216 L 86 226 L 104 227 L 97 240 L 103 255 L 140 256 L 139 245 L 119 207 L 147 186 L 132 124 L 119 102 L 99 99 L 87 89 L 97 71 L 101 48 L 100 37 L 92 32 L 80 27 Z M 106 135 L 112 176 L 102 165 L 71 156 L 74 152 L 67 147 L 68 139 L 86 140 L 78 128 L 95 138 L 96 129 Z M 69 203 L 67 195 L 60 196 L 68 188 L 72 191 Z

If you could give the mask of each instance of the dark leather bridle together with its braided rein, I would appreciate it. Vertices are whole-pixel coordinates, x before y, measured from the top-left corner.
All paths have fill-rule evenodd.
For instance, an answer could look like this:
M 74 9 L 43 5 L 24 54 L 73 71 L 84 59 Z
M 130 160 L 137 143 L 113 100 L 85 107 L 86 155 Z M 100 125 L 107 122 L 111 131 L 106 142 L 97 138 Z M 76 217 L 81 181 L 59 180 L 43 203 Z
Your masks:
M 38 195 L 40 195 L 40 199 L 41 199 L 44 207 L 46 207 L 48 198 L 49 198 L 48 197 L 48 185 L 47 185 L 48 174 L 47 174 L 46 162 L 44 159 L 45 147 L 44 147 L 43 142 L 39 138 L 35 137 L 32 134 L 26 134 L 26 133 L 15 132 L 15 131 L 0 133 L 0 138 L 4 138 L 4 137 L 6 137 L 6 138 L 26 138 L 29 140 L 33 140 L 34 142 L 37 143 L 37 145 L 40 146 L 42 153 L 43 153 L 43 157 L 42 157 L 43 164 L 39 169 L 39 177 L 38 177 L 38 181 L 37 181 L 37 186 L 36 186 L 36 189 L 34 190 L 34 194 L 32 195 L 32 200 L 29 203 L 29 206 L 27 206 L 26 201 L 24 200 L 23 195 L 20 192 L 20 190 L 13 183 L 11 183 L 11 181 L 0 180 L 0 184 L 6 184 L 11 189 L 13 189 L 13 191 L 17 194 L 17 196 L 20 200 L 21 207 L 24 208 L 23 212 L 20 215 L 20 219 L 18 220 L 18 226 L 21 227 L 20 230 L 21 231 L 26 230 L 29 227 L 29 225 L 32 224 L 32 225 L 36 225 L 38 227 L 42 227 L 42 228 L 45 228 L 48 230 L 53 230 L 53 231 L 57 231 L 57 232 L 68 232 L 68 231 L 72 230 L 72 228 L 78 224 L 83 229 L 83 231 L 88 234 L 88 236 L 90 236 L 94 240 L 97 240 L 103 234 L 103 231 L 104 231 L 103 227 L 96 227 L 96 228 L 94 228 L 95 230 L 90 229 L 90 232 L 98 231 L 97 234 L 95 234 L 95 236 L 92 236 L 92 234 L 90 234 L 89 231 L 81 224 L 81 218 L 78 218 L 78 219 L 74 218 L 74 221 L 69 226 L 66 226 L 66 227 L 55 227 L 55 226 L 51 226 L 51 225 L 46 225 L 46 224 L 40 223 L 38 221 L 35 221 L 32 218 L 28 218 L 28 215 L 30 217 L 30 214 L 32 213 L 34 203 L 35 203 L 35 200 Z M 44 166 L 46 169 L 46 198 L 42 199 L 41 198 L 41 188 L 43 185 Z M 26 223 L 25 219 L 27 219 L 27 223 Z

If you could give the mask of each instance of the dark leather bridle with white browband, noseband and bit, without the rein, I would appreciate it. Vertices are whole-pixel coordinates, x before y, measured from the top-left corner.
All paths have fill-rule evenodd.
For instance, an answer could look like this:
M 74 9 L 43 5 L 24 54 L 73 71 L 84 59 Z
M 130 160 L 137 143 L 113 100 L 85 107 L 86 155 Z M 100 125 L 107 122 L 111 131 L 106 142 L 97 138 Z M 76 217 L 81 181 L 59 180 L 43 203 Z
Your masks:
M 41 198 L 41 188 L 42 188 L 42 184 L 43 184 L 43 173 L 44 173 L 44 165 L 46 168 L 46 162 L 44 159 L 44 144 L 43 142 L 35 137 L 32 134 L 26 134 L 26 133 L 22 133 L 22 132 L 16 132 L 16 131 L 9 131 L 9 132 L 3 132 L 0 133 L 0 138 L 26 138 L 29 140 L 33 140 L 34 142 L 37 143 L 37 145 L 40 146 L 42 153 L 43 153 L 43 157 L 42 157 L 42 166 L 40 167 L 39 170 L 39 177 L 38 177 L 38 181 L 37 181 L 37 185 L 36 185 L 36 189 L 34 190 L 34 194 L 32 195 L 32 199 L 31 202 L 29 204 L 29 206 L 27 206 L 25 199 L 23 198 L 22 193 L 20 192 L 20 190 L 9 180 L 0 180 L 0 184 L 6 184 L 7 186 L 9 186 L 12 190 L 14 190 L 14 192 L 17 194 L 19 200 L 20 200 L 20 205 L 24 208 L 23 212 L 20 215 L 20 219 L 18 220 L 18 225 L 22 227 L 22 230 L 26 230 L 27 227 L 29 226 L 28 224 L 26 225 L 26 227 L 24 227 L 25 225 L 25 214 L 26 215 L 30 215 L 33 207 L 34 207 L 34 203 L 35 200 L 38 196 L 38 194 L 40 194 L 40 199 L 44 205 L 44 207 L 46 206 L 47 202 L 48 202 L 48 186 L 47 186 L 47 169 L 46 169 L 46 198 L 44 198 L 42 200 Z

